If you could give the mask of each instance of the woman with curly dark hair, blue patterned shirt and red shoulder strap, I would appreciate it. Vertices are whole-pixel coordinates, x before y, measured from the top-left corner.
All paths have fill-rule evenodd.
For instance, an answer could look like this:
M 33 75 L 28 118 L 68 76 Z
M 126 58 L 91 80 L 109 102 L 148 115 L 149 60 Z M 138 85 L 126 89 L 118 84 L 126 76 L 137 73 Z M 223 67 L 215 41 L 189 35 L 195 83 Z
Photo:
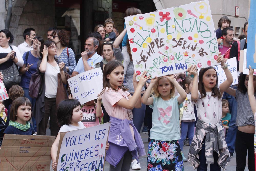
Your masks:
M 71 75 L 76 67 L 76 58 L 73 50 L 68 48 L 68 32 L 66 30 L 53 32 L 52 41 L 57 46 L 57 55 L 55 55 L 55 58 L 65 63 L 67 72 Z

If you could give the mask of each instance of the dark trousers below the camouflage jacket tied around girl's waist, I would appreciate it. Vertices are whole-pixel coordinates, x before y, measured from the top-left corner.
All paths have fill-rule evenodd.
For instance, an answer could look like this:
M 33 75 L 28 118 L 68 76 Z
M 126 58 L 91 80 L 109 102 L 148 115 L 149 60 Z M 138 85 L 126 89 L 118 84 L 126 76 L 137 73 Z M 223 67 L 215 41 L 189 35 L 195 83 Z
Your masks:
M 206 164 L 206 158 L 205 158 L 205 137 L 204 140 L 202 141 L 202 149 L 198 153 L 199 157 L 199 166 L 197 168 L 197 171 L 207 171 L 207 164 Z M 218 164 L 218 153 L 213 151 L 213 159 L 214 159 L 214 164 L 210 164 L 210 171 L 220 171 L 220 166 Z

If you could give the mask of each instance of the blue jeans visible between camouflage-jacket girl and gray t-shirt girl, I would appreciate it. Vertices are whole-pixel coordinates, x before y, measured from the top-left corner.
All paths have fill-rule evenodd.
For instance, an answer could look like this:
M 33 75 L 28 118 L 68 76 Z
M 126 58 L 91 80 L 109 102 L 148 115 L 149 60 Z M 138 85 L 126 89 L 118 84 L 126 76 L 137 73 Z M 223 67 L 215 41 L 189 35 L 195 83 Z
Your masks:
M 234 89 L 237 89 L 236 85 L 231 86 Z M 231 153 L 235 152 L 235 140 L 237 134 L 237 126 L 236 126 L 236 118 L 237 118 L 237 100 L 235 97 L 230 94 L 224 92 L 223 98 L 229 102 L 229 110 L 231 113 L 231 119 L 228 126 L 228 134 L 226 136 L 226 143 L 228 145 L 228 151 Z

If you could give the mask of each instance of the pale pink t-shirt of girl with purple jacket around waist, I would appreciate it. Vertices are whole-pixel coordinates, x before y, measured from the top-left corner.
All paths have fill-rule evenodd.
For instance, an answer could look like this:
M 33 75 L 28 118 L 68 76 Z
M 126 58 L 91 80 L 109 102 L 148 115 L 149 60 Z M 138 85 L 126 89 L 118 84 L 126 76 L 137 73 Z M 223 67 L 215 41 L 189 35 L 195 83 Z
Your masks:
M 125 109 L 121 106 L 116 105 L 116 103 L 122 98 L 125 98 L 128 101 L 129 95 L 130 95 L 129 92 L 123 91 L 122 89 L 119 89 L 118 92 L 116 92 L 112 88 L 110 89 L 106 88 L 104 90 L 104 93 L 101 95 L 101 98 L 102 98 L 104 108 L 106 112 L 109 114 L 109 116 L 122 119 L 122 120 L 123 119 L 132 120 L 133 114 L 131 109 Z M 132 135 L 134 135 L 133 128 L 131 125 L 130 125 L 130 130 Z

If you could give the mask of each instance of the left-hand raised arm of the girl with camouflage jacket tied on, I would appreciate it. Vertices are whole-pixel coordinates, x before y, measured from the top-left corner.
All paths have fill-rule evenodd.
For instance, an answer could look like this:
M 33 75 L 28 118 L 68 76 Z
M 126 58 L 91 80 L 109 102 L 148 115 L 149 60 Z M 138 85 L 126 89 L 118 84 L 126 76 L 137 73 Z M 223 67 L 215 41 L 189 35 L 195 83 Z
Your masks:
M 196 102 L 198 100 L 198 73 L 196 71 L 196 65 L 190 66 L 187 71 L 191 75 L 194 75 L 191 99 Z

